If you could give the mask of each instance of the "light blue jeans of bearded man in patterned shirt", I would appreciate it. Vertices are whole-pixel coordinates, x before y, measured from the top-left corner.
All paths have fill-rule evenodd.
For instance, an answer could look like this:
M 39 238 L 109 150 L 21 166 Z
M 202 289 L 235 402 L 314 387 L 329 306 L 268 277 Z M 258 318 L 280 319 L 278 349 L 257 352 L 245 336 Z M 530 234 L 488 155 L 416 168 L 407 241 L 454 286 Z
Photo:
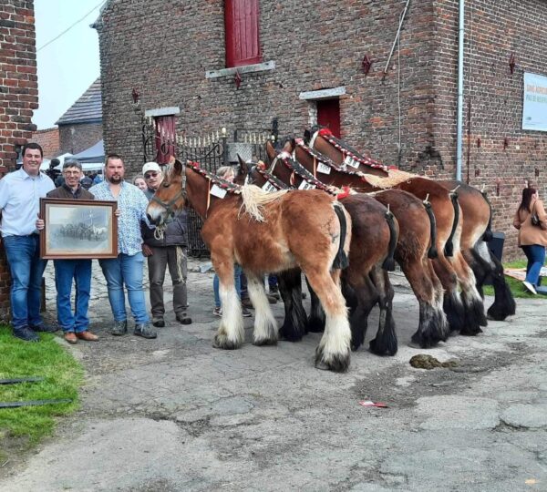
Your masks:
M 125 309 L 125 294 L 123 286 L 128 290 L 129 307 L 135 323 L 148 323 L 144 292 L 142 291 L 142 266 L 144 257 L 139 251 L 133 256 L 119 253 L 118 258 L 98 261 L 107 279 L 108 301 L 112 308 L 114 320 L 126 321 L 128 315 Z

